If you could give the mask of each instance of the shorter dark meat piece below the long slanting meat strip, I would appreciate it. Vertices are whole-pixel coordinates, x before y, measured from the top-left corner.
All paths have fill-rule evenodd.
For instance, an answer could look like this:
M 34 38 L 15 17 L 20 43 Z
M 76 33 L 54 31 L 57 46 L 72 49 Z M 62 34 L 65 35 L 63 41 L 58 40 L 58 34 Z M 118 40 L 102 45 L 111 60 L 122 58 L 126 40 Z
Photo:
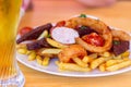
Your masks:
M 27 44 L 28 50 L 36 50 L 40 48 L 51 48 L 51 46 L 47 42 L 46 38 L 41 38 L 40 40 L 36 40 L 34 42 Z

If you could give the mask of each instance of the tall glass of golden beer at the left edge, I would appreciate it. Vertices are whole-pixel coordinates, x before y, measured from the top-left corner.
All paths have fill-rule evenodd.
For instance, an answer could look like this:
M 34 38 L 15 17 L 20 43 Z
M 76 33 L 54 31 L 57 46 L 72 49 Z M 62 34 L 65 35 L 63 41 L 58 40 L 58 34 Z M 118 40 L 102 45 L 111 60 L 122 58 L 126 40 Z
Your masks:
M 23 87 L 15 59 L 15 38 L 22 0 L 0 0 L 0 87 Z

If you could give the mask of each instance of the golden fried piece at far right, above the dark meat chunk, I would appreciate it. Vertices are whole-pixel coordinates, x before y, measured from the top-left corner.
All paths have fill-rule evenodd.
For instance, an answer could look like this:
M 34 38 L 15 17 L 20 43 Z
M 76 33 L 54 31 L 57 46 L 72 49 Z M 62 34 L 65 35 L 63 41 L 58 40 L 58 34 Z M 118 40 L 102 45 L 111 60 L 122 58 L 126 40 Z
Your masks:
M 112 34 L 112 37 L 117 37 L 120 40 L 127 40 L 127 41 L 131 40 L 131 36 L 126 32 L 111 29 L 111 34 Z

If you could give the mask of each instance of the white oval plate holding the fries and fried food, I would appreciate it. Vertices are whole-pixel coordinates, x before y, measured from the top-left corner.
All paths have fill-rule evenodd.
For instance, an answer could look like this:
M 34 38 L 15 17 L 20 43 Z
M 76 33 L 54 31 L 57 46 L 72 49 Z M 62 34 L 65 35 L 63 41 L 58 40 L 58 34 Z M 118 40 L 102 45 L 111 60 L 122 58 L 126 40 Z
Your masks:
M 92 15 L 87 15 L 88 17 L 92 18 L 98 18 Z M 112 28 L 112 27 L 111 27 Z M 118 29 L 118 28 L 115 28 Z M 130 51 L 131 51 L 131 41 L 130 41 Z M 131 55 L 130 55 L 131 58 Z M 116 72 L 99 72 L 98 70 L 94 70 L 92 72 L 60 72 L 58 70 L 58 66 L 55 64 L 55 61 L 57 61 L 58 59 L 52 59 L 50 61 L 50 64 L 48 66 L 41 66 L 39 64 L 36 63 L 35 61 L 28 61 L 27 60 L 27 55 L 24 54 L 20 54 L 16 52 L 16 59 L 19 62 L 21 62 L 22 64 L 26 65 L 27 67 L 31 67 L 33 70 L 39 71 L 39 72 L 44 72 L 44 73 L 48 73 L 48 74 L 53 74 L 53 75 L 60 75 L 60 76 L 71 76 L 71 77 L 97 77 L 97 76 L 109 76 L 109 75 L 116 75 L 116 74 L 120 74 L 120 73 L 124 73 L 131 70 L 131 66 L 129 67 L 124 67 L 122 70 L 116 71 Z

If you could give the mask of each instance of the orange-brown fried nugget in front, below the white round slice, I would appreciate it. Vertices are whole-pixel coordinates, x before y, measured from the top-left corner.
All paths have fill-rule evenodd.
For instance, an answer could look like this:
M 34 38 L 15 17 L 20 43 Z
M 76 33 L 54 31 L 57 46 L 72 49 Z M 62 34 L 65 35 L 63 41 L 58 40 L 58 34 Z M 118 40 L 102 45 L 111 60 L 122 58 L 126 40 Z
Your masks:
M 61 62 L 68 63 L 73 58 L 83 58 L 87 55 L 86 50 L 80 45 L 71 45 L 58 54 L 58 58 Z

